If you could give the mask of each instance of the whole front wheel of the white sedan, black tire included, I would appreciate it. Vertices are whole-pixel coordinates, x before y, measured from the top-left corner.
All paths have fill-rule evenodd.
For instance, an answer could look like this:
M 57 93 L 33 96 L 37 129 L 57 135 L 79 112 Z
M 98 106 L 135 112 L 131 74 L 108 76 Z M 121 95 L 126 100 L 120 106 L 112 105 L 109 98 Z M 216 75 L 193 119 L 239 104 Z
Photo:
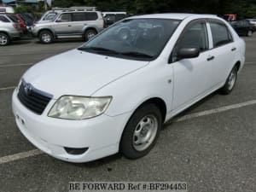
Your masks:
M 160 109 L 154 104 L 138 108 L 125 126 L 119 151 L 131 160 L 143 157 L 154 147 L 161 126 Z

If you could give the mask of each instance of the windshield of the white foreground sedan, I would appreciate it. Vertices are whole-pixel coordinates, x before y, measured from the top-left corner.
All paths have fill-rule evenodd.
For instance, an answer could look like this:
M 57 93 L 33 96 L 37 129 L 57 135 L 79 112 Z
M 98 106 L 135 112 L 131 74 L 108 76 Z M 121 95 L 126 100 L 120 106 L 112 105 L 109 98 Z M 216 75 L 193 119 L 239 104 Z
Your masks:
M 102 55 L 152 61 L 177 28 L 180 20 L 127 19 L 102 32 L 80 50 Z

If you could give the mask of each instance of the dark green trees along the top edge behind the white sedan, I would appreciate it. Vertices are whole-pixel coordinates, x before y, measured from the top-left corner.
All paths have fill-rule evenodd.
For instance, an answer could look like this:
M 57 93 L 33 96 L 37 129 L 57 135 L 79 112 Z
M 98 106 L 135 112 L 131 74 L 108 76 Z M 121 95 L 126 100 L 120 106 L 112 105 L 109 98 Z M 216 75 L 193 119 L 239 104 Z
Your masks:
M 53 7 L 95 6 L 102 11 L 126 10 L 132 14 L 199 13 L 256 17 L 256 0 L 54 0 Z

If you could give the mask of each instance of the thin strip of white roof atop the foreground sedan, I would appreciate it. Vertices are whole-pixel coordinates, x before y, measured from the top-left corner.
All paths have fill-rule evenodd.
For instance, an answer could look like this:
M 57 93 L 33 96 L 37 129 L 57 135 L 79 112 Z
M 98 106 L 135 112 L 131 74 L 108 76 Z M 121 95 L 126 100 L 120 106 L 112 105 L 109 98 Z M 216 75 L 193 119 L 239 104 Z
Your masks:
M 172 19 L 172 20 L 184 20 L 188 17 L 198 17 L 198 18 L 218 18 L 217 15 L 199 15 L 199 14 L 153 14 L 153 15 L 135 15 L 131 16 L 133 19 L 143 19 L 143 18 L 154 18 L 154 19 Z

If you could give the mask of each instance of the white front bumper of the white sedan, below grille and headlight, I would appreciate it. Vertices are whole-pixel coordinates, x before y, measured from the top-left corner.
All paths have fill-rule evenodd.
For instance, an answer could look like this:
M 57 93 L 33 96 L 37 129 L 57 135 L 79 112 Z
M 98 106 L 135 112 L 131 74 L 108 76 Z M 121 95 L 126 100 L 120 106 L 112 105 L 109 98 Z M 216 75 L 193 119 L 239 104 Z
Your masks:
M 24 107 L 14 91 L 12 104 L 15 121 L 22 134 L 37 148 L 57 159 L 87 162 L 119 151 L 119 140 L 131 113 L 93 119 L 67 120 L 49 118 L 49 102 L 42 115 Z M 64 148 L 88 148 L 84 154 L 68 154 Z

